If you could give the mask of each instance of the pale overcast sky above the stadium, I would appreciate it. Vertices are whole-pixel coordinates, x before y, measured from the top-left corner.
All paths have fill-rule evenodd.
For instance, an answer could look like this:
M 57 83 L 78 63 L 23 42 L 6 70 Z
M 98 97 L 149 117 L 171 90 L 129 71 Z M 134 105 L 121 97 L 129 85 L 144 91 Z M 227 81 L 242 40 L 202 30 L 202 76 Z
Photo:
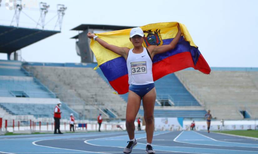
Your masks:
M 75 40 L 70 39 L 78 32 L 70 29 L 80 24 L 144 26 L 177 21 L 185 24 L 211 67 L 258 67 L 257 0 L 23 0 L 27 6 L 23 12 L 35 21 L 40 16 L 39 2 L 50 5 L 45 23 L 57 14 L 57 4 L 67 10 L 61 33 L 21 50 L 28 62 L 79 63 Z M 10 25 L 14 15 L 5 3 L 2 0 L 0 25 Z M 23 12 L 19 26 L 35 28 L 36 23 Z M 46 29 L 53 30 L 56 21 L 57 17 Z M 0 59 L 7 55 L 0 54 Z

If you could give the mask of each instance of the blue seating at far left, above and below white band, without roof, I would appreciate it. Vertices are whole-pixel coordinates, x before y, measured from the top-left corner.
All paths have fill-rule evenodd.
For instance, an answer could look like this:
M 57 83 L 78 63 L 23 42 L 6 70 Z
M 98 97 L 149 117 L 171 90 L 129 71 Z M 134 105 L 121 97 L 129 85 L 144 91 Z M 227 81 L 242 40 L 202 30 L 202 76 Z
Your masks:
M 32 98 L 56 98 L 36 78 L 30 77 L 30 73 L 24 70 L 22 62 L 13 60 L 0 60 L 0 97 L 32 97 Z M 55 104 L 28 104 L 23 103 L 0 103 L 1 116 L 5 115 L 34 115 L 38 117 L 53 117 Z M 63 104 L 63 116 L 69 117 L 73 113 L 66 104 Z

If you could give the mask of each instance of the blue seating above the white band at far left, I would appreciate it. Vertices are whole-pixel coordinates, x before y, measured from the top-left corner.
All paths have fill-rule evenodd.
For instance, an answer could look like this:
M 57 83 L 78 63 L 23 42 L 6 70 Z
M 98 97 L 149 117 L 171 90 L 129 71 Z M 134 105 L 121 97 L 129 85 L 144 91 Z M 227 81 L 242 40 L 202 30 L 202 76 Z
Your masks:
M 24 93 L 28 97 L 56 98 L 55 94 L 43 86 L 37 79 L 26 80 L 30 74 L 24 70 L 21 61 L 0 60 L 0 76 L 14 76 L 19 79 L 0 78 L 0 96 L 15 97 L 17 93 Z

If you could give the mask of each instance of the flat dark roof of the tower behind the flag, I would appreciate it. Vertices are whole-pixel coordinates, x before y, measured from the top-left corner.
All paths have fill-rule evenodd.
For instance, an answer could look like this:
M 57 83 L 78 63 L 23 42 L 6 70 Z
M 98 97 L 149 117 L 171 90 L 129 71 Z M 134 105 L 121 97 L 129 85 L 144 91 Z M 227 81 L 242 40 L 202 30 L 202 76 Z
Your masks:
M 92 25 L 92 24 L 81 24 L 71 30 L 87 30 L 87 29 L 100 29 L 100 30 L 123 30 L 134 28 L 136 26 L 114 26 L 114 25 Z M 71 39 L 78 39 L 78 35 L 71 37 Z

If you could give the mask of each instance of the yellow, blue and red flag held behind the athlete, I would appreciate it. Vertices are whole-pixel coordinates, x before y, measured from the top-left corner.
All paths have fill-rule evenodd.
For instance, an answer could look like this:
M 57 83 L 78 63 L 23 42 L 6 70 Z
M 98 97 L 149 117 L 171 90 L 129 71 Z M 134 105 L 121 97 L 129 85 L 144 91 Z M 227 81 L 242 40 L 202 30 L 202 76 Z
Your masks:
M 145 40 L 143 45 L 165 45 L 169 44 L 177 34 L 178 22 L 163 22 L 141 26 L 144 31 Z M 153 58 L 153 79 L 159 78 L 185 68 L 192 67 L 205 74 L 210 74 L 210 67 L 192 40 L 185 25 L 180 24 L 182 36 L 175 49 L 162 54 L 156 54 Z M 96 34 L 109 44 L 119 47 L 133 48 L 129 40 L 131 29 L 116 30 Z M 91 40 L 90 48 L 95 54 L 98 65 L 110 85 L 118 92 L 128 92 L 128 71 L 126 61 L 123 57 L 105 49 L 97 41 Z

